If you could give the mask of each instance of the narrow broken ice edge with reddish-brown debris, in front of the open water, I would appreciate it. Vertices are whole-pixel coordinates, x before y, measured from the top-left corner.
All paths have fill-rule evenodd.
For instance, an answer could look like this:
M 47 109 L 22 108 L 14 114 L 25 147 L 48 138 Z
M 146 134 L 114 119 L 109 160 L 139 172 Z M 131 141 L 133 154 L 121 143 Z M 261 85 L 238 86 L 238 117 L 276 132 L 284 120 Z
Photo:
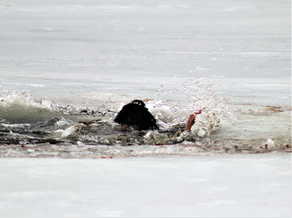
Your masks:
M 232 140 L 231 140 L 232 141 Z M 232 143 L 232 142 L 231 142 Z M 251 142 L 250 142 L 251 143 Z M 206 154 L 236 154 L 236 153 L 267 153 L 272 151 L 291 152 L 290 145 L 279 148 L 253 146 L 242 144 L 224 146 L 216 142 L 185 142 L 175 145 L 86 145 L 49 142 L 39 144 L 0 144 L 0 157 L 60 157 L 60 158 L 112 158 L 145 155 L 206 155 Z

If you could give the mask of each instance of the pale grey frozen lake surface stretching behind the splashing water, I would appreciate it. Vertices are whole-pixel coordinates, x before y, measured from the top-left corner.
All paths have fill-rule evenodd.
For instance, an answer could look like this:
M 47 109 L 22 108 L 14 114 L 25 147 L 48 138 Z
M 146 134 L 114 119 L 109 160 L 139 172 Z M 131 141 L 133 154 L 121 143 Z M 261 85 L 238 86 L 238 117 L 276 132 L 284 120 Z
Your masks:
M 288 0 L 1 5 L 1 89 L 70 103 L 90 92 L 152 98 L 198 71 L 232 103 L 289 104 L 290 8 Z

